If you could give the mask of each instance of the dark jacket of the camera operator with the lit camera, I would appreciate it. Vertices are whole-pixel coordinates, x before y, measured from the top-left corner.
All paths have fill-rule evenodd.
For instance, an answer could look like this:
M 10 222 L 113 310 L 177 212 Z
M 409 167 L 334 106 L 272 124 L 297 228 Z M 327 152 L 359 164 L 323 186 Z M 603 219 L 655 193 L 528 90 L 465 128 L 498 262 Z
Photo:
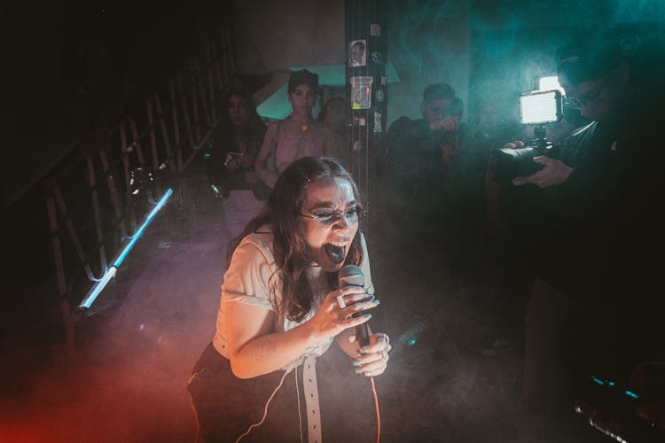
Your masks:
M 579 298 L 626 296 L 644 277 L 660 228 L 662 150 L 644 113 L 574 132 L 560 159 L 575 171 L 537 192 L 536 275 Z M 536 209 L 539 208 L 539 209 Z M 545 215 L 544 215 L 545 214 Z M 653 251 L 655 252 L 655 251 Z

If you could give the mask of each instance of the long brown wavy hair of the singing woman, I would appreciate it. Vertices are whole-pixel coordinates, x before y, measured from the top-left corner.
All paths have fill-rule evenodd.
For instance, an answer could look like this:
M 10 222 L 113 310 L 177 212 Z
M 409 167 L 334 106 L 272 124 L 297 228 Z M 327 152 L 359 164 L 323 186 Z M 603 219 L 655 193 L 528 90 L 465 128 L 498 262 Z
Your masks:
M 305 157 L 295 160 L 282 172 L 262 212 L 249 221 L 242 233 L 231 240 L 224 268 L 229 268 L 231 258 L 243 237 L 269 226 L 274 237 L 273 253 L 282 280 L 282 301 L 279 313 L 292 321 L 301 321 L 309 313 L 314 293 L 307 283 L 305 270 L 309 267 L 305 240 L 299 232 L 298 214 L 305 201 L 308 184 L 315 180 L 331 181 L 334 178 L 348 180 L 354 197 L 360 202 L 356 181 L 336 159 L 328 157 Z M 358 203 L 360 205 L 360 203 Z M 360 241 L 360 219 L 358 232 L 349 248 L 344 264 L 360 266 L 363 247 Z M 336 288 L 337 272 L 328 274 L 328 283 Z M 270 285 L 269 285 L 270 286 Z

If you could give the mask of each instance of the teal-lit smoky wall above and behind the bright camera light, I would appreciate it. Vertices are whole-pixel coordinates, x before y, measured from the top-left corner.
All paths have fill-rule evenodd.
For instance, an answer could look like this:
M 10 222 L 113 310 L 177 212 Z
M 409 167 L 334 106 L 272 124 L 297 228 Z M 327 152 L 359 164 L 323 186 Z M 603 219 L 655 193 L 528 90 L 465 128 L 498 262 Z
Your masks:
M 553 7 L 525 0 L 478 1 L 470 20 L 469 120 L 483 102 L 516 119 L 517 97 L 536 89 L 540 76 L 556 74 L 555 52 L 584 30 L 637 44 L 635 74 L 646 77 L 662 70 L 662 2 L 564 0 Z

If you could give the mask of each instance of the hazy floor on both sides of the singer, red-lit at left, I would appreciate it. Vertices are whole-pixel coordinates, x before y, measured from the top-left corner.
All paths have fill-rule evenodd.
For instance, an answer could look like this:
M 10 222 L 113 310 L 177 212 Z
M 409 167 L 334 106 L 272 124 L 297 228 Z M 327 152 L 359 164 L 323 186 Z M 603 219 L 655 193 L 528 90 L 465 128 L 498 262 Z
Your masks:
M 377 378 L 382 440 L 516 441 L 520 350 L 479 352 L 496 332 L 488 279 L 404 260 L 372 229 L 368 240 L 382 300 L 372 328 L 395 346 Z M 0 441 L 193 441 L 184 385 L 215 328 L 227 241 L 212 194 L 175 198 L 78 324 L 76 354 L 38 326 L 7 338 Z M 55 299 L 55 285 L 30 291 Z

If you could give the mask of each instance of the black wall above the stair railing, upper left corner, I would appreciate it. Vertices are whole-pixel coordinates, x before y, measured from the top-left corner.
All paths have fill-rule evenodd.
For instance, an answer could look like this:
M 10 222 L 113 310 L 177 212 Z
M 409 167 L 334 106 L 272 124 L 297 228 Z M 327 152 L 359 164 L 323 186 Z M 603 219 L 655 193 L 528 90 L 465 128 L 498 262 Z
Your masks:
M 11 112 L 4 119 L 4 203 L 75 139 L 103 128 L 130 97 L 183 66 L 229 18 L 227 4 L 212 0 L 5 4 L 3 101 Z

